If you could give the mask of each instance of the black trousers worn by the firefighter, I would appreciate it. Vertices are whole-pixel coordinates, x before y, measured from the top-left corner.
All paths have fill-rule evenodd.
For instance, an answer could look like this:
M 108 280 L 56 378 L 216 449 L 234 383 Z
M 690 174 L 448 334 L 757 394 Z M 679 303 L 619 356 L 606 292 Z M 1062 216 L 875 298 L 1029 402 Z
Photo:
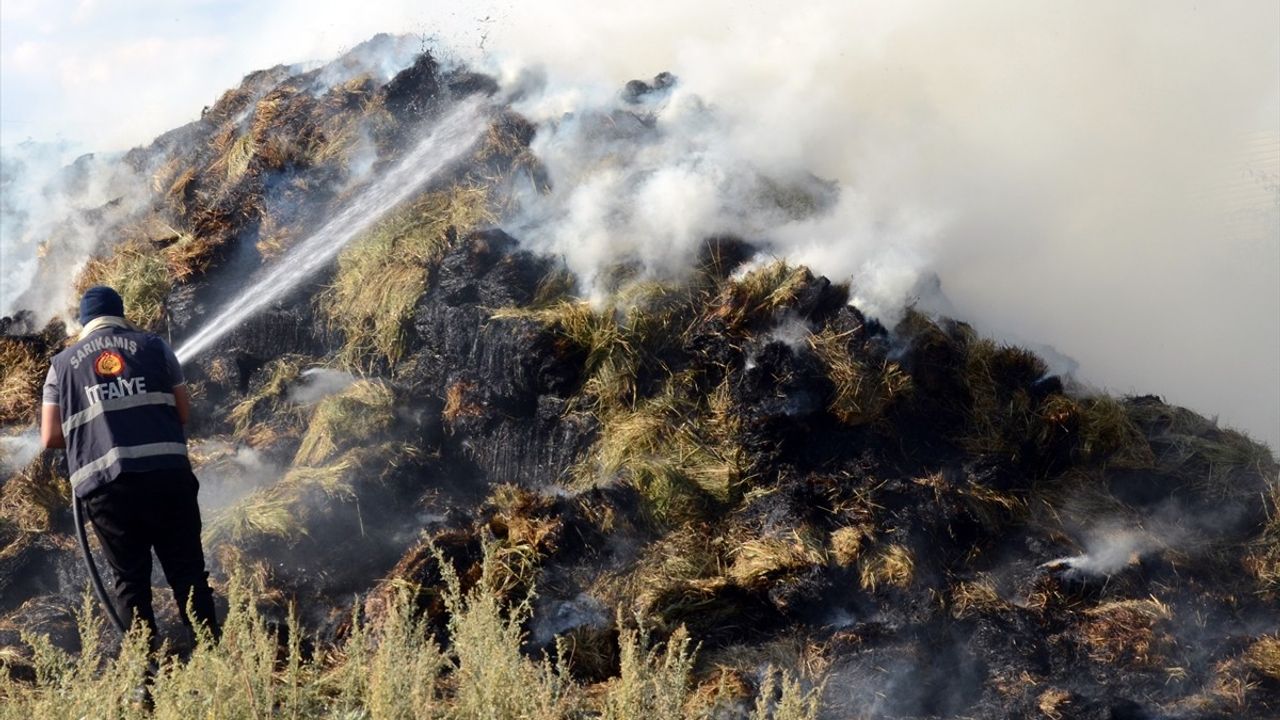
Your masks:
M 151 609 L 152 548 L 173 589 L 182 623 L 191 628 L 189 602 L 195 620 L 214 638 L 219 635 L 214 592 L 209 588 L 200 544 L 198 491 L 200 482 L 186 469 L 122 473 L 82 501 L 115 573 L 115 607 L 120 619 L 146 623 L 152 638 L 157 637 Z

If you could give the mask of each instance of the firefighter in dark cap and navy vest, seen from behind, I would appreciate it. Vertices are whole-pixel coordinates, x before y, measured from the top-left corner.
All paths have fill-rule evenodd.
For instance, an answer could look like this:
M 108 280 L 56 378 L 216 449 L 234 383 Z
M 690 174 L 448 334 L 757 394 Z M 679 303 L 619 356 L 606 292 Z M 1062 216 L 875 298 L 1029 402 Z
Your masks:
M 79 322 L 79 337 L 54 356 L 45 379 L 41 441 L 67 448 L 72 492 L 115 573 L 119 616 L 145 624 L 155 647 L 155 550 L 183 624 L 191 629 L 195 620 L 216 639 L 200 483 L 183 432 L 191 396 L 178 359 L 159 336 L 125 322 L 124 302 L 109 287 L 84 292 Z

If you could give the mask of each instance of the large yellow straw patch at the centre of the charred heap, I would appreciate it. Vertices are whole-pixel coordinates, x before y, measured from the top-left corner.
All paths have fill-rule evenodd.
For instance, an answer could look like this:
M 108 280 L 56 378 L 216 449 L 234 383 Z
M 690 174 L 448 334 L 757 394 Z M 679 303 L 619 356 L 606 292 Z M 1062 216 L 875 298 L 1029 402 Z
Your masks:
M 726 290 L 724 296 L 764 311 L 763 306 L 785 302 L 797 292 L 795 281 L 788 279 L 795 277 L 808 275 L 771 265 L 744 281 L 750 292 Z M 585 486 L 614 480 L 634 486 L 652 515 L 666 523 L 698 518 L 736 501 L 748 480 L 730 377 L 708 392 L 699 388 L 707 375 L 696 359 L 689 370 L 673 372 L 667 365 L 687 333 L 707 320 L 705 313 L 723 310 L 705 305 L 707 282 L 704 277 L 671 287 L 626 281 L 603 307 L 561 299 L 494 315 L 539 322 L 567 348 L 584 355 L 575 407 L 590 410 L 602 429 L 573 475 Z M 762 290 L 765 286 L 772 290 Z

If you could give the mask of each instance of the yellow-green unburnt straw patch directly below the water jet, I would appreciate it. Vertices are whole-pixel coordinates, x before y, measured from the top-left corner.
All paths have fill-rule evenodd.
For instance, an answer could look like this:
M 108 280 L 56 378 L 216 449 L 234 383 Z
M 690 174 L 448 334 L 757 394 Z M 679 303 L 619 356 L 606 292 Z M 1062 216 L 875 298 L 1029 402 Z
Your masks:
M 429 273 L 452 238 L 492 222 L 484 188 L 456 187 L 419 197 L 352 242 L 319 299 L 346 338 L 340 360 L 357 368 L 399 363 Z

